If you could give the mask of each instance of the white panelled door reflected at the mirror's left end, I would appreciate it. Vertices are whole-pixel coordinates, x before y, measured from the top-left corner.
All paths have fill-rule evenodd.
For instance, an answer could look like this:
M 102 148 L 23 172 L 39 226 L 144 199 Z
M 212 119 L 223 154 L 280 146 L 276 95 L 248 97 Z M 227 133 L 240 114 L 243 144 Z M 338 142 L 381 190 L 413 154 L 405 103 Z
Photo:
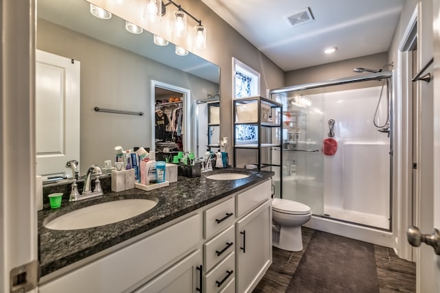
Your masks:
M 65 165 L 80 159 L 80 62 L 36 50 L 35 71 L 36 174 L 72 177 Z

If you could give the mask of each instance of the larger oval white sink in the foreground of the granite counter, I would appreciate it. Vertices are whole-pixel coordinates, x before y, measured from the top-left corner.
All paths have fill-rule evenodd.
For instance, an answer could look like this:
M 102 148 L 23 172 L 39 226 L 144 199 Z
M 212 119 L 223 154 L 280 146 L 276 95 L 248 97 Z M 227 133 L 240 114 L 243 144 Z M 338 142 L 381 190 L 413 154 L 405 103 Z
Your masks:
M 104 202 L 71 211 L 44 224 L 52 230 L 76 230 L 107 225 L 133 218 L 153 209 L 157 201 L 147 199 L 127 199 Z

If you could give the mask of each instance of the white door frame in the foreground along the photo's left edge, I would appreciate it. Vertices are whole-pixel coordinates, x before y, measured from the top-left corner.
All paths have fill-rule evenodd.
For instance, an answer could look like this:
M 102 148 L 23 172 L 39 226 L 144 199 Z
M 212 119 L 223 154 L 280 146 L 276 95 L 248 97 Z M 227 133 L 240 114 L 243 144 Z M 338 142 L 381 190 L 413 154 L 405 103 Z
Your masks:
M 38 259 L 35 0 L 0 1 L 0 23 L 0 292 L 10 292 L 12 268 Z

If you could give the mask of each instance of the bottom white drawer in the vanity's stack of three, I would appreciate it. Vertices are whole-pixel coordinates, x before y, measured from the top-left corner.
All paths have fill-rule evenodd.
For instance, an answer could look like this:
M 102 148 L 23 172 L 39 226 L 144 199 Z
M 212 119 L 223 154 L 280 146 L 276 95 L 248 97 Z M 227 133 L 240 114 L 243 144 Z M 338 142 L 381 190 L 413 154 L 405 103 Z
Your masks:
M 235 253 L 230 253 L 203 277 L 205 292 L 219 292 L 235 278 Z

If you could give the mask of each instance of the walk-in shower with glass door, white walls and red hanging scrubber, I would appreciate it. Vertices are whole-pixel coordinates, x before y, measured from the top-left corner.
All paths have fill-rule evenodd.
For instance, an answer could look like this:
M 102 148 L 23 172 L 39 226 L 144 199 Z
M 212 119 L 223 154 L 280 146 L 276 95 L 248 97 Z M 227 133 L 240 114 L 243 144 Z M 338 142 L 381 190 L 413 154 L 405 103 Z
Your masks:
M 274 186 L 278 196 L 311 207 L 312 228 L 344 235 L 358 227 L 359 235 L 364 229 L 380 238 L 392 221 L 392 73 L 364 71 L 373 73 L 270 91 L 283 103 L 283 148 L 273 150 L 283 152 L 283 162 L 276 162 L 282 167 Z M 330 134 L 332 146 L 324 143 Z

